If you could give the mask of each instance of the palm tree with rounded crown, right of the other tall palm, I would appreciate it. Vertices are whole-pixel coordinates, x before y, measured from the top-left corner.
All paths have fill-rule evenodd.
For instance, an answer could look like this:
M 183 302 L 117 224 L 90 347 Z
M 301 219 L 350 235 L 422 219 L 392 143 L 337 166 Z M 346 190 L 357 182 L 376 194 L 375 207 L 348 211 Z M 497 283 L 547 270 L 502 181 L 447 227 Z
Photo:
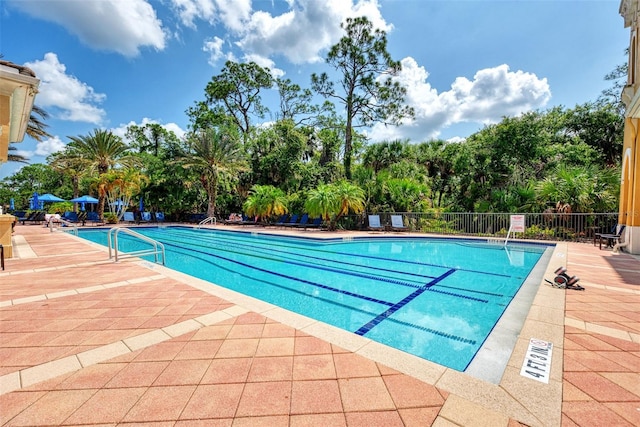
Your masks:
M 218 183 L 246 170 L 242 145 L 232 135 L 209 128 L 198 131 L 189 141 L 189 152 L 178 162 L 199 175 L 207 193 L 207 216 L 215 216 Z

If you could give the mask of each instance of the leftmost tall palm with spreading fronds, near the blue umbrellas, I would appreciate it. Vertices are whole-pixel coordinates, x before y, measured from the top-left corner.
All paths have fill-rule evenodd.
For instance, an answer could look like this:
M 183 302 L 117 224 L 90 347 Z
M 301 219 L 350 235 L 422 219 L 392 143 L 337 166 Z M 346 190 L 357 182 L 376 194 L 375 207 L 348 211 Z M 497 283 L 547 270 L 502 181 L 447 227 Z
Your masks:
M 139 160 L 129 151 L 129 147 L 122 138 L 111 131 L 95 129 L 93 133 L 78 137 L 69 137 L 71 142 L 67 145 L 69 156 L 78 159 L 84 169 L 96 176 L 100 181 L 101 175 L 110 169 L 117 167 L 134 167 Z M 104 213 L 106 193 L 98 192 L 98 215 L 102 218 Z

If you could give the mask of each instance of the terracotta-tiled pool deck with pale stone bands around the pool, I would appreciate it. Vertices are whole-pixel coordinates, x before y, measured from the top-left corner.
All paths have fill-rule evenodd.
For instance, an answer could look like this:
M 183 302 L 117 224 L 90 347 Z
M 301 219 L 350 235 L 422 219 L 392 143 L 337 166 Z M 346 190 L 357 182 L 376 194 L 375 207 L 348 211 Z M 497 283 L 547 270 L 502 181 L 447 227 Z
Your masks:
M 628 254 L 559 243 L 544 276 L 564 265 L 586 290 L 542 283 L 492 384 L 156 264 L 114 263 L 67 233 L 17 225 L 13 242 L 2 425 L 640 425 L 640 260 Z M 548 384 L 520 375 L 530 338 L 553 343 Z

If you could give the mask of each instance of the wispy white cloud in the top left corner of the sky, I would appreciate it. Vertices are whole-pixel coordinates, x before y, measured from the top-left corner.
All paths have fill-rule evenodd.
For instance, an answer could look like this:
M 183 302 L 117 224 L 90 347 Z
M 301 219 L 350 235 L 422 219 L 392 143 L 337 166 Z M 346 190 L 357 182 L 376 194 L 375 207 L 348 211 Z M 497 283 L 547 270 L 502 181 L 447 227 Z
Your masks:
M 167 34 L 146 0 L 12 0 L 11 4 L 33 17 L 63 26 L 94 49 L 134 57 L 141 47 L 165 47 Z

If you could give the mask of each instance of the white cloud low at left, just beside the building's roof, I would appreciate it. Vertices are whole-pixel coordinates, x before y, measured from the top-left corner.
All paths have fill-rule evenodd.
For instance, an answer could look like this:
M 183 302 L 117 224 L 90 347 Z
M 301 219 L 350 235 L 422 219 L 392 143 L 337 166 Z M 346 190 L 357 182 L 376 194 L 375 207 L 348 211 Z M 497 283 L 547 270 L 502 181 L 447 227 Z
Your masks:
M 55 53 L 47 53 L 42 61 L 27 62 L 40 79 L 36 104 L 62 120 L 99 124 L 105 111 L 99 108 L 106 95 L 66 73 L 66 67 Z

